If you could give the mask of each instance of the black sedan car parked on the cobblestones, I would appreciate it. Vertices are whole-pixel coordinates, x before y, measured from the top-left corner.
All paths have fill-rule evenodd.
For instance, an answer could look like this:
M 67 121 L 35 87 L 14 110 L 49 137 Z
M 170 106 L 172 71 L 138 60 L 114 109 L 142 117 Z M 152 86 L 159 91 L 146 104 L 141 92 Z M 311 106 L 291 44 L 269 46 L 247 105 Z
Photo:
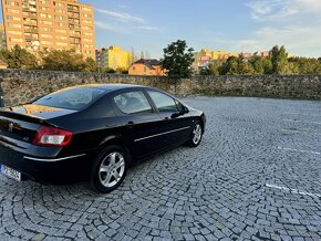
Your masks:
M 18 181 L 87 179 L 108 192 L 135 160 L 198 146 L 205 124 L 203 112 L 157 88 L 69 87 L 0 111 L 0 168 Z

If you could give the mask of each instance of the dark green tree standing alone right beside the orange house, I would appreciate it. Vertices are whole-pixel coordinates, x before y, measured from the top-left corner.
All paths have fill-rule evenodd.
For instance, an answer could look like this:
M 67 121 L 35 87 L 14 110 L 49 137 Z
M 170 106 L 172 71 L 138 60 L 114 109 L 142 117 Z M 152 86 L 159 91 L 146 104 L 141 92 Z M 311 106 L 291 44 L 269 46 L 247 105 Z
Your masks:
M 169 77 L 180 78 L 191 76 L 191 64 L 194 62 L 193 51 L 193 48 L 188 49 L 184 40 L 177 40 L 164 49 L 162 67 L 166 70 Z

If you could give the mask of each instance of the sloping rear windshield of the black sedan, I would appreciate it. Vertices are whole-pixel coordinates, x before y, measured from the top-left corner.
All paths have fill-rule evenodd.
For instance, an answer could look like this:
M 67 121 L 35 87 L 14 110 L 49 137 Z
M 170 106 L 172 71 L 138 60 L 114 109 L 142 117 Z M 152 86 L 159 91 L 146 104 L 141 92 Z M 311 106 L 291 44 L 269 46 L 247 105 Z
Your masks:
M 79 111 L 92 104 L 104 92 L 104 90 L 93 87 L 65 88 L 45 95 L 34 101 L 33 104 Z

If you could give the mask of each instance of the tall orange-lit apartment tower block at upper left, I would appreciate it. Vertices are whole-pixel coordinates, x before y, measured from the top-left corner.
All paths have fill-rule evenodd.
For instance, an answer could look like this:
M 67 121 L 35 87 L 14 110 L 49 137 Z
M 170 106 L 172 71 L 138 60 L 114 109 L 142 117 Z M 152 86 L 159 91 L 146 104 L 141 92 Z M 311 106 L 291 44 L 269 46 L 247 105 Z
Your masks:
M 95 59 L 94 11 L 76 0 L 2 0 L 7 48 L 75 50 Z

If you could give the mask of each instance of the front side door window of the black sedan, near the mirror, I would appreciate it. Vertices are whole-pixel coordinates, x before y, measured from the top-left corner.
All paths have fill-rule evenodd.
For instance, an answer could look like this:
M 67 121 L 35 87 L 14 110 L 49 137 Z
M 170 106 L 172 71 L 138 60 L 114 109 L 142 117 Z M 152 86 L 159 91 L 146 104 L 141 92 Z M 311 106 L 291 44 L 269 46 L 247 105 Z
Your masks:
M 159 112 L 179 112 L 174 98 L 159 92 L 148 91 Z

